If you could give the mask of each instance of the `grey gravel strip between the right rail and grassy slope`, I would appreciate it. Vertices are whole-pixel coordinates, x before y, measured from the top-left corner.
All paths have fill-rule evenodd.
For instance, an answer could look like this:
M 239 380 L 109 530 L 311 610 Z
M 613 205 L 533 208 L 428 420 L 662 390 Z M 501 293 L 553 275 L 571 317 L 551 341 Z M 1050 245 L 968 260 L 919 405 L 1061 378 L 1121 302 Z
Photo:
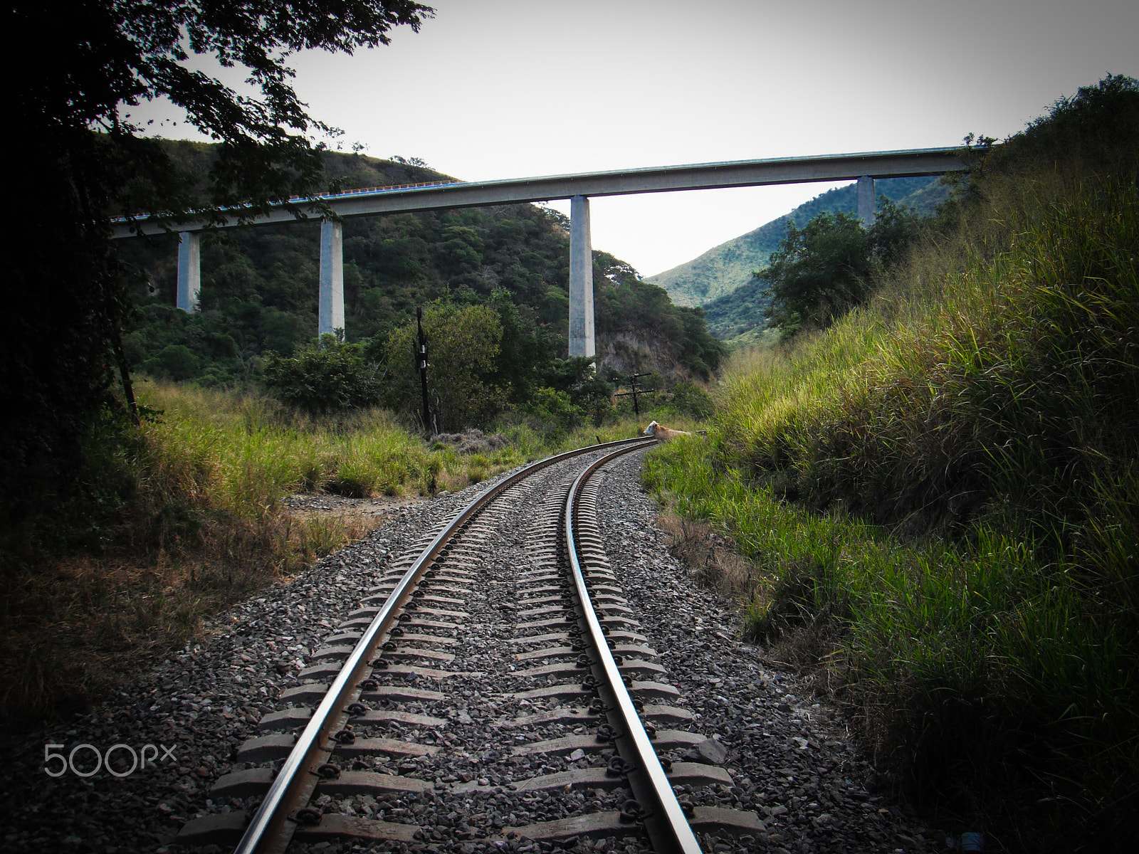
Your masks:
M 698 586 L 671 555 L 655 524 L 659 507 L 640 485 L 641 457 L 605 469 L 598 517 L 606 551 L 648 646 L 669 668 L 663 681 L 680 688 L 677 705 L 696 714 L 695 729 L 726 750 L 735 781 L 685 795 L 756 810 L 769 831 L 759 849 L 939 851 L 933 831 L 872 793 L 874 774 L 842 712 L 740 640 L 738 606 Z

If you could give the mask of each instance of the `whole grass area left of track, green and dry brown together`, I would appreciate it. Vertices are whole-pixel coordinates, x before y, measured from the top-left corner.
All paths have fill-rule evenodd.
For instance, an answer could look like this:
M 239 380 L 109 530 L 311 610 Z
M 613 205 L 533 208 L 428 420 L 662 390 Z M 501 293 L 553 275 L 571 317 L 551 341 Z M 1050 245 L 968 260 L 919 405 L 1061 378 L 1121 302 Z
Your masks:
M 140 656 L 185 643 L 203 619 L 378 524 L 290 512 L 290 494 L 429 496 L 644 428 L 515 418 L 499 426 L 505 446 L 457 453 L 382 410 L 313 419 L 255 394 L 147 379 L 137 393 L 153 413 L 139 430 L 109 419 L 90 437 L 84 503 L 97 507 L 43 528 L 59 536 L 39 550 L 0 550 L 0 725 L 83 708 Z

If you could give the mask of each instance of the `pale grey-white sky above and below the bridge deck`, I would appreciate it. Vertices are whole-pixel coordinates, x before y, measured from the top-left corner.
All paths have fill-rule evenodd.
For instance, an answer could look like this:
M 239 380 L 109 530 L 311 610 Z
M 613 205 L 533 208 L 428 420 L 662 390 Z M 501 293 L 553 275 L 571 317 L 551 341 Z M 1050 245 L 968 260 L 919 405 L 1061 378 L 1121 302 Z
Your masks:
M 1139 77 L 1136 0 L 427 2 L 387 47 L 297 55 L 294 83 L 344 150 L 465 180 L 1003 139 Z M 593 198 L 593 248 L 649 276 L 834 186 Z

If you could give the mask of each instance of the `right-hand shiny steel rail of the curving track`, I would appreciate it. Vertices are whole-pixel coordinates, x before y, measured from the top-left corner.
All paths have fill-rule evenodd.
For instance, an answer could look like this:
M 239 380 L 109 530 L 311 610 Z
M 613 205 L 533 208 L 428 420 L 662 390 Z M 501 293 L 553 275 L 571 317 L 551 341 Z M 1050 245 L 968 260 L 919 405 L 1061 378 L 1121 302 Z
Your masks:
M 621 750 L 624 754 L 622 758 L 626 761 L 631 759 L 634 765 L 629 773 L 629 785 L 633 791 L 633 796 L 642 807 L 648 806 L 650 810 L 642 818 L 645 820 L 645 829 L 648 831 L 649 839 L 653 843 L 653 848 L 656 851 L 656 854 L 700 854 L 700 845 L 696 840 L 696 835 L 693 832 L 688 819 L 685 818 L 685 811 L 681 810 L 680 803 L 677 800 L 677 795 L 672 790 L 672 783 L 669 782 L 669 778 L 661 766 L 661 761 L 656 756 L 656 750 L 653 748 L 653 742 L 649 741 L 648 733 L 645 731 L 640 716 L 637 714 L 632 698 L 629 696 L 629 691 L 625 690 L 624 682 L 621 679 L 621 671 L 617 667 L 617 663 L 613 659 L 613 652 L 609 650 L 609 643 L 605 637 L 605 632 L 601 630 L 601 623 L 590 601 L 589 589 L 585 585 L 585 575 L 581 568 L 581 560 L 577 558 L 577 541 L 574 534 L 574 512 L 576 510 L 577 495 L 585 482 L 598 468 L 631 450 L 633 449 L 621 449 L 606 454 L 582 471 L 577 479 L 574 481 L 573 486 L 570 487 L 570 494 L 566 496 L 565 504 L 564 533 L 566 551 L 570 556 L 570 568 L 577 590 L 577 598 L 581 600 L 582 615 L 597 652 L 598 660 L 593 665 L 595 673 L 599 668 L 603 678 L 601 687 L 598 690 L 607 689 L 611 695 L 608 699 L 612 701 L 607 701 L 606 705 L 609 706 L 609 723 L 617 730 L 617 736 L 614 740 L 618 747 L 624 748 Z M 607 698 L 603 697 L 603 700 Z M 616 715 L 617 720 L 613 720 L 614 715 Z

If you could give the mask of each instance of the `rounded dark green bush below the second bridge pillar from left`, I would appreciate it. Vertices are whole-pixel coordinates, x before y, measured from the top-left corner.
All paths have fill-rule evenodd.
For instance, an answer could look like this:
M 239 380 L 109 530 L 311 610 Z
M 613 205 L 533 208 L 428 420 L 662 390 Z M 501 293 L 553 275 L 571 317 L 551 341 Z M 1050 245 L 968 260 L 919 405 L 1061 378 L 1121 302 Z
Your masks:
M 379 399 L 379 381 L 362 351 L 359 344 L 322 335 L 292 359 L 270 352 L 265 385 L 281 403 L 309 414 L 374 407 Z

